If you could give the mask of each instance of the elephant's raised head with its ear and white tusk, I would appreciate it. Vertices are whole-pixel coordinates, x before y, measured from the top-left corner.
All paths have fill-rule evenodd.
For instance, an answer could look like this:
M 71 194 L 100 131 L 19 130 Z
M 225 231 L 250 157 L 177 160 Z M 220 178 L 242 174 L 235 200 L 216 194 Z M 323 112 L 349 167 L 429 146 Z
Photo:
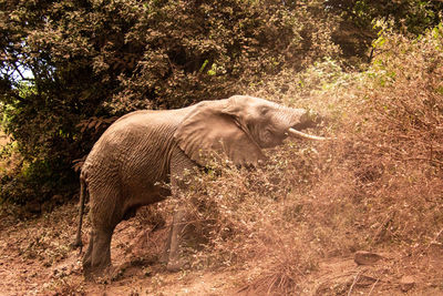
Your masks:
M 179 147 L 200 164 L 207 151 L 224 152 L 236 164 L 256 164 L 264 157 L 261 149 L 277 146 L 289 135 L 323 140 L 298 131 L 312 123 L 305 109 L 235 95 L 195 105 L 174 136 Z

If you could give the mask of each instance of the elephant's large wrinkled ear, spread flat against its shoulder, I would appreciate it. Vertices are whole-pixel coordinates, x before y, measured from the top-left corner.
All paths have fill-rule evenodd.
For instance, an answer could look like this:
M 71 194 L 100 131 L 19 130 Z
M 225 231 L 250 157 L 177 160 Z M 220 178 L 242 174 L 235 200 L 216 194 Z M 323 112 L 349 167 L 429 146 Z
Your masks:
M 228 104 L 228 100 L 222 100 L 195 105 L 174 134 L 178 146 L 200 165 L 205 165 L 205 157 L 212 152 L 243 165 L 256 164 L 264 157 L 258 144 L 229 112 Z

